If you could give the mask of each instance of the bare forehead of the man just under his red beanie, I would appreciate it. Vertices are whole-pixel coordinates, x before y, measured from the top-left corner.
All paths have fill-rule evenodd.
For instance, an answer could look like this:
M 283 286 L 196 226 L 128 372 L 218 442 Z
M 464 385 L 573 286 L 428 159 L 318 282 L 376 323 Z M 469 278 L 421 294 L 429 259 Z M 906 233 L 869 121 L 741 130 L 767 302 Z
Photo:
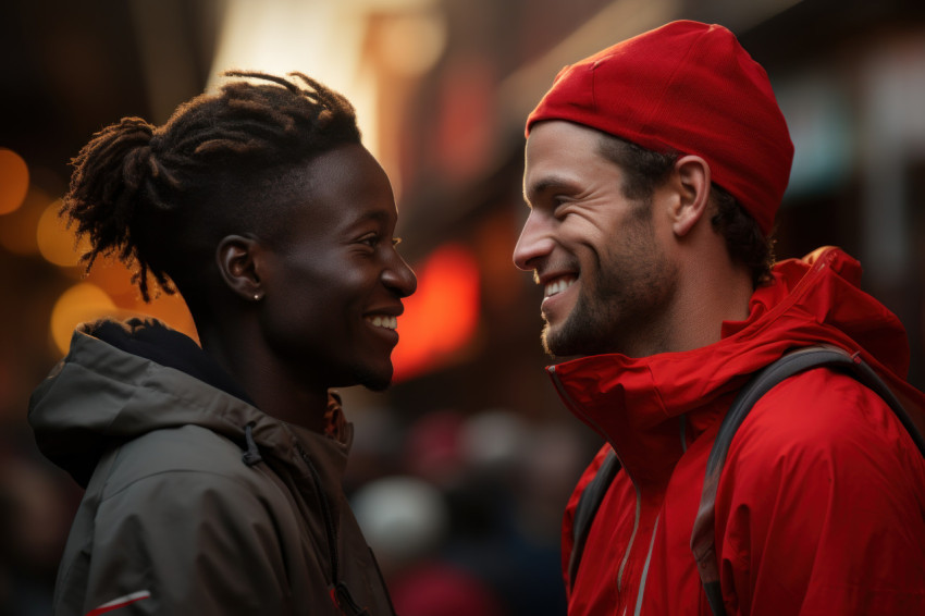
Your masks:
M 551 120 L 535 124 L 527 138 L 523 190 L 528 197 L 550 183 L 585 183 L 618 171 L 601 153 L 601 133 L 594 128 Z

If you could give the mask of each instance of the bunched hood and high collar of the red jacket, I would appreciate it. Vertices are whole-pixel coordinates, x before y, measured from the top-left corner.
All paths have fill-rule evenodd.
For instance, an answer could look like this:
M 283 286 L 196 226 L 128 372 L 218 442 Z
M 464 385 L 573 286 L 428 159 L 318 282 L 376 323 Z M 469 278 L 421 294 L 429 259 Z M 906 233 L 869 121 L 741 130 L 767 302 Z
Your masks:
M 618 455 L 625 449 L 625 465 L 622 458 L 632 457 L 633 449 L 651 460 L 645 435 L 659 431 L 673 434 L 679 451 L 668 457 L 677 459 L 682 448 L 677 418 L 715 407 L 707 417 L 688 418 L 702 430 L 718 419 L 725 396 L 751 373 L 800 346 L 827 344 L 859 353 L 893 389 L 916 397 L 904 381 L 905 331 L 892 312 L 861 291 L 860 279 L 856 260 L 838 248 L 821 248 L 775 266 L 773 280 L 752 296 L 749 318 L 724 322 L 721 340 L 712 345 L 642 358 L 596 355 L 548 370 L 569 409 L 614 444 Z

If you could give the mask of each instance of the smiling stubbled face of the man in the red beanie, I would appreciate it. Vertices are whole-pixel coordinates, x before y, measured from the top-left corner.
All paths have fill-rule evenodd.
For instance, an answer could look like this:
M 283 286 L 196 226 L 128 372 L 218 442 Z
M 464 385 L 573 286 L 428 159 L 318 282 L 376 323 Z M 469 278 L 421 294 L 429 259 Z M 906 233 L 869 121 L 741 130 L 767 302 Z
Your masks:
M 679 268 L 668 193 L 630 200 L 600 133 L 536 124 L 527 140 L 523 194 L 530 214 L 514 251 L 544 289 L 543 344 L 556 356 L 665 350 Z

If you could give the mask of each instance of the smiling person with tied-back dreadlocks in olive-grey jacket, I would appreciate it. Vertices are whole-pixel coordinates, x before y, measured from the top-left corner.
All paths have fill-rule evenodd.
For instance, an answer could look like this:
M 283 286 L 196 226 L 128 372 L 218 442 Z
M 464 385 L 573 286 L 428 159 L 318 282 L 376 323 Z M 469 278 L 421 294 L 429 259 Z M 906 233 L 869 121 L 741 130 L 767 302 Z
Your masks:
M 33 395 L 41 451 L 85 489 L 54 614 L 392 614 L 341 489 L 330 387 L 385 387 L 402 298 L 395 201 L 338 94 L 237 77 L 163 126 L 104 128 L 62 213 L 180 292 L 201 348 L 153 320 L 84 324 Z

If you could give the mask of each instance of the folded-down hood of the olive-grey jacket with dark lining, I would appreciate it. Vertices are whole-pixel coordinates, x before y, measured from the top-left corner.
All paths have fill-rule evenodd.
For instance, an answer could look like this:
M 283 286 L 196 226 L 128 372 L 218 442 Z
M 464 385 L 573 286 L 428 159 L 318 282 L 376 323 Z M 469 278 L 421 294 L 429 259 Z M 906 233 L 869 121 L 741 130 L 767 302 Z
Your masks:
M 323 440 L 341 471 L 351 436 L 349 424 L 336 442 L 266 415 L 193 340 L 153 319 L 81 325 L 33 392 L 28 420 L 42 454 L 83 486 L 108 448 L 153 430 L 196 424 L 259 452 Z

